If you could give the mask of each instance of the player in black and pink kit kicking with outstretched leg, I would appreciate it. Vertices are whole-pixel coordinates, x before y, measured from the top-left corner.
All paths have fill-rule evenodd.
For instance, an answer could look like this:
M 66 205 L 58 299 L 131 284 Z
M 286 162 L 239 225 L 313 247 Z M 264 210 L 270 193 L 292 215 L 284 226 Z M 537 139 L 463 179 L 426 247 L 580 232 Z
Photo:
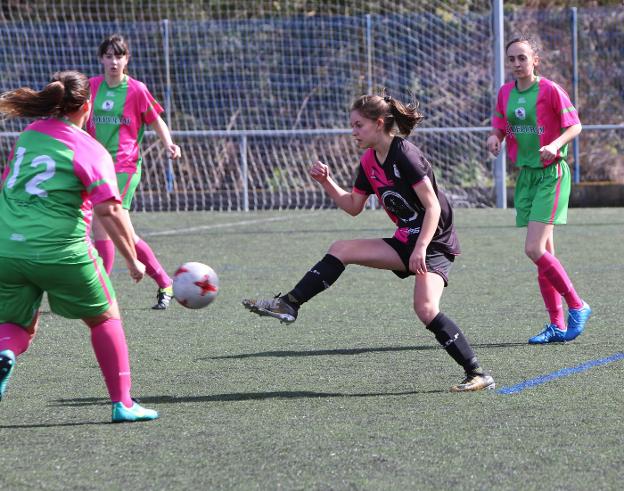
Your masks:
M 440 298 L 460 252 L 453 211 L 421 151 L 394 134 L 398 127 L 409 135 L 421 119 L 415 105 L 404 106 L 388 96 L 362 96 L 351 108 L 353 137 L 366 149 L 353 190 L 342 189 L 321 162 L 310 169 L 312 178 L 350 215 L 358 215 L 368 196 L 376 194 L 398 227 L 394 236 L 334 242 L 287 295 L 244 300 L 243 305 L 256 314 L 294 322 L 301 305 L 329 288 L 348 264 L 392 270 L 400 278 L 415 275 L 416 315 L 466 372 L 465 380 L 451 390 L 493 389 L 493 378 L 480 367 L 462 331 L 440 312 Z

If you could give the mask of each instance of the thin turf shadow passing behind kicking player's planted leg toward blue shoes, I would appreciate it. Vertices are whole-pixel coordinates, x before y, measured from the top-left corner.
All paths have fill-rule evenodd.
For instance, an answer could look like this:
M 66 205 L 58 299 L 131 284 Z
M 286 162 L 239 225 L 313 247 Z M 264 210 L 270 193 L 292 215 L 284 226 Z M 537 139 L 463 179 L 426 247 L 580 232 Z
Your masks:
M 489 348 L 515 348 L 518 346 L 528 346 L 526 342 L 512 342 L 512 343 L 482 343 L 473 344 L 472 347 L 476 349 L 489 349 Z M 425 345 L 425 346 L 380 346 L 377 348 L 336 348 L 326 350 L 310 350 L 310 351 L 262 351 L 260 353 L 241 353 L 239 355 L 224 355 L 224 356 L 208 356 L 205 358 L 198 358 L 198 361 L 202 360 L 240 360 L 244 358 L 289 358 L 289 357 L 305 357 L 305 356 L 332 356 L 332 355 L 361 355 L 365 353 L 384 353 L 384 352 L 398 352 L 398 351 L 431 351 L 442 349 L 441 346 Z

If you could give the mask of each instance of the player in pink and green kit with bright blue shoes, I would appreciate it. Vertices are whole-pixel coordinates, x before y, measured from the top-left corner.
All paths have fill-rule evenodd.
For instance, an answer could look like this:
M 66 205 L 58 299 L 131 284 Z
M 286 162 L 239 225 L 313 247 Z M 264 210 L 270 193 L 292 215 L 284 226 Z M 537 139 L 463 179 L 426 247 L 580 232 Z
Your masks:
M 529 343 L 571 341 L 583 332 L 591 308 L 578 296 L 555 257 L 554 226 L 567 221 L 567 144 L 581 132 L 581 122 L 566 92 L 537 76 L 539 56 L 533 40 L 514 38 L 505 52 L 515 81 L 498 92 L 487 147 L 498 155 L 506 139 L 509 158 L 520 167 L 514 194 L 516 225 L 527 227 L 524 250 L 537 265 L 537 280 L 550 316 L 544 330 Z M 562 296 L 568 304 L 567 326 Z

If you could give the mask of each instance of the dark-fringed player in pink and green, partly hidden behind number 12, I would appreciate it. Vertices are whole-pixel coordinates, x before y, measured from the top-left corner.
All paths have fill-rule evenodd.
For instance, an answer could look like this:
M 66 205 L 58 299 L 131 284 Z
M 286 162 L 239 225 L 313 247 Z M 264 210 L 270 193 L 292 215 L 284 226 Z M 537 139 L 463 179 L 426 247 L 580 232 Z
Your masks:
M 144 124 L 150 125 L 172 159 L 180 157 L 180 147 L 173 143 L 167 125 L 160 117 L 162 107 L 142 82 L 127 74 L 130 61 L 128 44 L 119 34 L 106 38 L 98 48 L 98 57 L 104 75 L 90 79 L 93 110 L 87 125 L 91 133 L 113 157 L 122 205 L 132 229 L 139 260 L 147 274 L 158 284 L 157 302 L 152 308 L 166 309 L 173 296 L 171 278 L 158 262 L 151 247 L 134 231 L 128 210 L 141 180 L 141 151 Z M 97 218 L 93 236 L 106 272 L 110 274 L 115 259 L 115 248 Z

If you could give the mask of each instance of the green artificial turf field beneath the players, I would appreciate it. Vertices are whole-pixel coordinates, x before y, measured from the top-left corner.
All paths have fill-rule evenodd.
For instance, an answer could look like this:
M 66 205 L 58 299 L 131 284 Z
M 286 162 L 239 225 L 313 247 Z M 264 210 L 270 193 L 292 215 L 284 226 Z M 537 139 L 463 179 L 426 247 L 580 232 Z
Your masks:
M 133 394 L 161 418 L 111 424 L 87 328 L 44 312 L 0 403 L 0 489 L 620 489 L 624 210 L 572 209 L 556 229 L 594 315 L 549 346 L 526 344 L 547 317 L 513 211 L 456 210 L 442 310 L 497 382 L 469 394 L 448 392 L 462 372 L 417 321 L 410 279 L 350 266 L 292 325 L 240 305 L 288 291 L 334 240 L 389 236 L 383 212 L 133 221 L 169 271 L 201 261 L 221 280 L 206 309 L 157 312 L 153 282 L 117 261 Z

